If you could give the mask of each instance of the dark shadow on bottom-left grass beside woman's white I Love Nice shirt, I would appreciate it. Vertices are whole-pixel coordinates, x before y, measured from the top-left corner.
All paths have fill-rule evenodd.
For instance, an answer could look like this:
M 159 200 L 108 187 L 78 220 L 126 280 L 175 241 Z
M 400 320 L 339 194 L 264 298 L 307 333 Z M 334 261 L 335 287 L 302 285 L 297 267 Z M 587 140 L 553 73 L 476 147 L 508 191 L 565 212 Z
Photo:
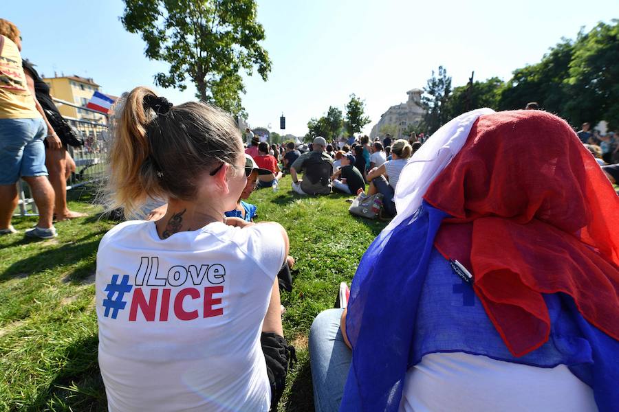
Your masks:
M 98 337 L 69 346 L 56 378 L 28 405 L 29 411 L 107 411 L 105 387 L 97 360 Z

